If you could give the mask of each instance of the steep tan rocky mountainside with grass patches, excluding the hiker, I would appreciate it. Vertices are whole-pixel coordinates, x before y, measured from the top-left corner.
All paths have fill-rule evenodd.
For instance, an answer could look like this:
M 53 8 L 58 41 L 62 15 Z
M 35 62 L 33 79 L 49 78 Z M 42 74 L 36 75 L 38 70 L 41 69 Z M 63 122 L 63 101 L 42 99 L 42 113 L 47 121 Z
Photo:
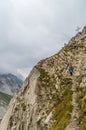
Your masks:
M 0 130 L 86 129 L 85 32 L 84 28 L 58 54 L 33 68 L 11 100 Z

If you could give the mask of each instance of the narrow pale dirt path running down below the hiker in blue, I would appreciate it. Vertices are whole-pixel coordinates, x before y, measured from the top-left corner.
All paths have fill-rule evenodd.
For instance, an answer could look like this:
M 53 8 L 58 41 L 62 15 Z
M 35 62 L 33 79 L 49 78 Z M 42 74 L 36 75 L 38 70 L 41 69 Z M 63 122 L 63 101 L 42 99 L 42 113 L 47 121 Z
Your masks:
M 76 102 L 76 97 L 77 97 L 77 90 L 76 87 L 78 85 L 76 78 L 72 79 L 73 81 L 73 85 L 72 85 L 72 91 L 73 91 L 73 95 L 72 95 L 72 105 L 73 105 L 73 110 L 72 110 L 72 115 L 71 115 L 71 121 L 69 123 L 69 125 L 66 127 L 65 130 L 78 130 L 79 126 L 78 126 L 78 121 L 77 121 L 77 117 L 78 117 L 78 104 Z

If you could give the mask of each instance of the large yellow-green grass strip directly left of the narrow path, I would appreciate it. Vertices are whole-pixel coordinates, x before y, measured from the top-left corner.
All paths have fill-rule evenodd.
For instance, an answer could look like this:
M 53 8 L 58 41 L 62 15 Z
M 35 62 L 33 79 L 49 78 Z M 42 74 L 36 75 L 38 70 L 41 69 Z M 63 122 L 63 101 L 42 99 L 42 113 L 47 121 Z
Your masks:
M 68 85 L 63 92 L 63 100 L 53 111 L 55 121 L 50 130 L 65 130 L 71 119 L 72 109 L 72 91 L 71 86 Z

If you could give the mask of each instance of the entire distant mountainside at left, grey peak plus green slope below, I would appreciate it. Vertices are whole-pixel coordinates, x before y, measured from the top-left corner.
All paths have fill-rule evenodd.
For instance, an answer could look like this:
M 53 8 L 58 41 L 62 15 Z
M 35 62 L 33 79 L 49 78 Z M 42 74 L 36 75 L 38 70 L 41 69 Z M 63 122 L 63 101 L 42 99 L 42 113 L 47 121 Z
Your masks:
M 7 111 L 8 104 L 22 85 L 22 80 L 13 74 L 0 75 L 0 119 Z

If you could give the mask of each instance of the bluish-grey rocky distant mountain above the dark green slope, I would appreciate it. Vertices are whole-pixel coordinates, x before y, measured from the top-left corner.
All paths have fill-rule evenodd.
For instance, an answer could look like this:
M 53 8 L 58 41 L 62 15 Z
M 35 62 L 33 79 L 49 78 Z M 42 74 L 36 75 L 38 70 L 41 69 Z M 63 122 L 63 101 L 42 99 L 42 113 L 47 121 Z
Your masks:
M 0 92 L 13 95 L 21 88 L 22 80 L 13 74 L 0 75 Z

